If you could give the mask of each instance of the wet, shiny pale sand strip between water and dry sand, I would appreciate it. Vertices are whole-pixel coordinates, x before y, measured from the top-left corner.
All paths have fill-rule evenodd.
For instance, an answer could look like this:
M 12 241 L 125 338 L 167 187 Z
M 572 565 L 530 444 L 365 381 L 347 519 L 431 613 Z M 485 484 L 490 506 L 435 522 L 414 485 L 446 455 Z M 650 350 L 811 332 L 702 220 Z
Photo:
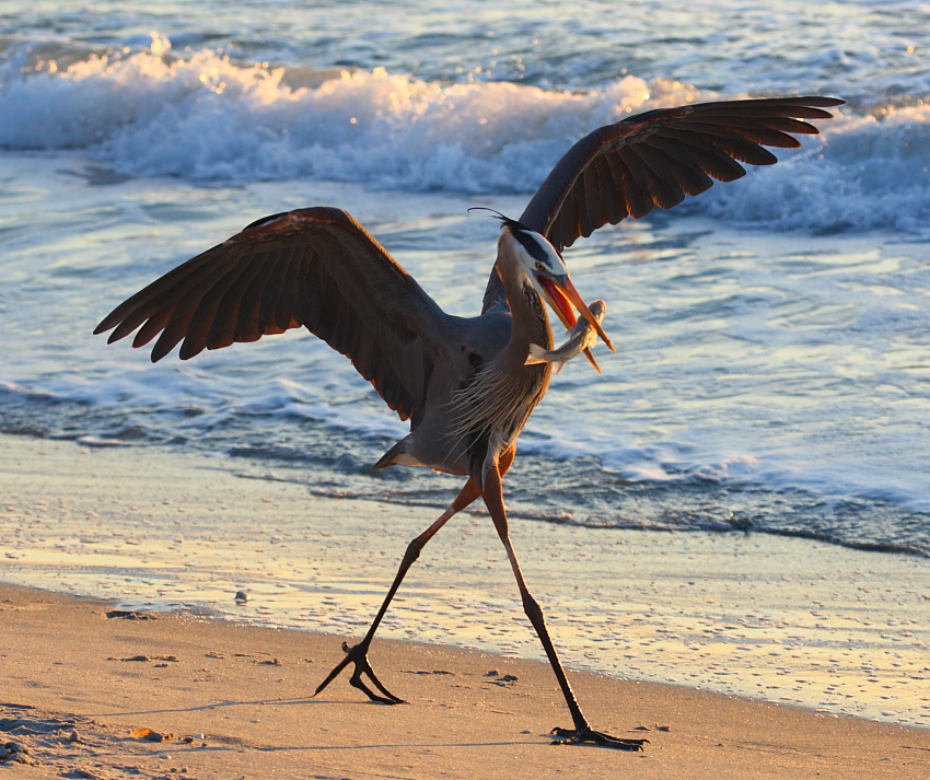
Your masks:
M 219 457 L 10 435 L 2 445 L 0 579 L 125 608 L 359 637 L 407 542 L 437 514 L 311 496 Z M 570 673 L 930 726 L 930 561 L 768 535 L 512 525 Z M 425 549 L 383 638 L 543 659 L 480 513 Z

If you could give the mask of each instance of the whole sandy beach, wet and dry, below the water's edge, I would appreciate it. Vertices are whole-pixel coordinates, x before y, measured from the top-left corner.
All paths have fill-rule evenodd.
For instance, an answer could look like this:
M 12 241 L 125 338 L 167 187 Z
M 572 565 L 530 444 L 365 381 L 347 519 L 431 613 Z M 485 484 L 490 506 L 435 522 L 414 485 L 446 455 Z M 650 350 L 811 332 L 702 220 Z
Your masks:
M 834 560 L 834 548 L 797 539 L 765 539 L 779 544 L 763 561 L 741 534 L 612 532 L 606 544 L 515 524 L 589 718 L 650 740 L 641 755 L 556 748 L 546 735 L 567 712 L 532 660 L 486 517 L 465 516 L 428 548 L 384 627 L 395 639 L 373 647 L 380 676 L 410 703 L 368 703 L 345 679 L 311 699 L 434 512 L 307 496 L 226 459 L 92 443 L 3 438 L 2 579 L 109 599 L 0 591 L 0 723 L 39 761 L 13 769 L 24 777 L 930 771 L 927 729 L 842 714 L 926 723 L 926 561 Z M 256 538 L 223 537 L 224 513 L 253 516 Z M 247 604 L 235 605 L 237 589 Z M 146 729 L 171 736 L 132 736 Z

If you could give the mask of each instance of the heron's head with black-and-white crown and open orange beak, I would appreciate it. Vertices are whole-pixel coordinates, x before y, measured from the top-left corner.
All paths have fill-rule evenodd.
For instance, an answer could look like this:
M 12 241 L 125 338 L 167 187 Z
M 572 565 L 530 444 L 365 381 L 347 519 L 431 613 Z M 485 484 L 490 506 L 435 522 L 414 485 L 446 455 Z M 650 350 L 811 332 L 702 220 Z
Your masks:
M 523 269 L 539 296 L 551 307 L 562 325 L 571 328 L 578 322 L 572 306 L 594 328 L 604 344 L 616 351 L 601 323 L 591 314 L 591 310 L 581 293 L 578 292 L 568 273 L 565 259 L 544 235 L 526 225 L 499 214 L 502 222 L 499 252 L 505 253 Z

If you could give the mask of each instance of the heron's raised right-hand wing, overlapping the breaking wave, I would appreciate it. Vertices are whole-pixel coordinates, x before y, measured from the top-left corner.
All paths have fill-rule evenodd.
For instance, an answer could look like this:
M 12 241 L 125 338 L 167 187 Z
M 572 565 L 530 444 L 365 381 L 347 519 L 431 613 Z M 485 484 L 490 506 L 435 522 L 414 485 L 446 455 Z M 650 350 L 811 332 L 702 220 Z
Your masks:
M 608 222 L 644 217 L 656 206 L 671 209 L 709 189 L 714 178 L 740 178 L 746 173 L 741 162 L 778 162 L 765 147 L 800 147 L 795 135 L 817 133 L 802 120 L 829 119 L 823 109 L 841 104 L 817 96 L 698 103 L 607 125 L 566 152 L 520 221 L 561 251 Z M 485 310 L 500 302 L 496 276 Z

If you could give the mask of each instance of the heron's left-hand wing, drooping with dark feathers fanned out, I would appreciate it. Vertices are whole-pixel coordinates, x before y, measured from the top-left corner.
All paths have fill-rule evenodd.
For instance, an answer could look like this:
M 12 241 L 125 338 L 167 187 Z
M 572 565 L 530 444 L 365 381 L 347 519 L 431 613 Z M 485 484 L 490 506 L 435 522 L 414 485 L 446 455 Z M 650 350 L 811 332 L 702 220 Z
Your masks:
M 449 318 L 348 213 L 258 220 L 119 304 L 94 330 L 108 342 L 161 334 L 152 361 L 306 327 L 349 357 L 402 420 L 422 409 L 433 364 L 455 339 Z

